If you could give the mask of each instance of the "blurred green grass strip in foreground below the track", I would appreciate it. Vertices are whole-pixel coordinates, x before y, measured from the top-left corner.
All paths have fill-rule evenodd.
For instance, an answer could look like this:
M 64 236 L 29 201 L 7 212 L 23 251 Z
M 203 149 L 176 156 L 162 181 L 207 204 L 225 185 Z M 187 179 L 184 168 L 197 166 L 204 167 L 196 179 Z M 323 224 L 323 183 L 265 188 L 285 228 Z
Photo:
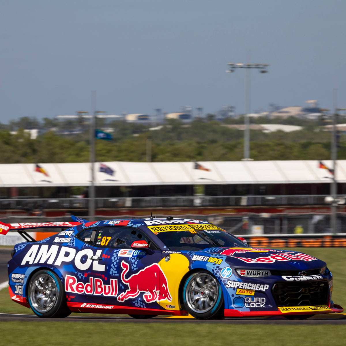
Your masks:
M 325 329 L 324 332 L 321 329 Z M 49 345 L 344 345 L 346 326 L 2 322 L 1 344 Z M 19 332 L 20 331 L 20 332 Z

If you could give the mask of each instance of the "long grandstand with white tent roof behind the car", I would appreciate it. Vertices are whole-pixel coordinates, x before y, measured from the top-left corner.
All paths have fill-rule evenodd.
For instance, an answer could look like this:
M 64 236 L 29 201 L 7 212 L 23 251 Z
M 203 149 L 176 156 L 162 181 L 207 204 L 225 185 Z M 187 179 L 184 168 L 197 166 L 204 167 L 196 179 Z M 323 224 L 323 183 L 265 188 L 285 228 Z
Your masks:
M 94 181 L 101 219 L 153 211 L 221 220 L 234 233 L 250 232 L 253 225 L 264 226 L 264 234 L 293 233 L 297 225 L 309 233 L 329 231 L 325 197 L 333 176 L 318 161 L 102 164 L 106 168 L 95 163 Z M 88 216 L 90 168 L 90 163 L 1 164 L 0 217 Z M 346 160 L 337 161 L 336 178 L 338 195 L 346 195 Z M 340 205 L 339 222 L 344 214 Z

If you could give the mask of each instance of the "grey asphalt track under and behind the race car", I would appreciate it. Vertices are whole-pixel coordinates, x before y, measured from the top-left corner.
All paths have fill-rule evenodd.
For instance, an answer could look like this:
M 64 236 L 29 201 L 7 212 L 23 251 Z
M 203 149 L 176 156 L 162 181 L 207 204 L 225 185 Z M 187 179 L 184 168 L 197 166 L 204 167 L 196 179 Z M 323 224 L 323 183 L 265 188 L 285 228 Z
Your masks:
M 0 248 L 0 284 L 8 281 L 7 262 L 11 258 L 11 248 Z M 35 322 L 126 322 L 126 323 L 217 323 L 217 324 L 275 324 L 275 325 L 346 325 L 346 314 L 315 315 L 307 320 L 288 320 L 284 317 L 271 318 L 225 318 L 223 320 L 197 320 L 189 317 L 154 317 L 151 319 L 134 319 L 131 317 L 69 316 L 66 318 L 39 318 L 36 315 L 19 315 L 0 313 L 0 321 L 35 321 Z

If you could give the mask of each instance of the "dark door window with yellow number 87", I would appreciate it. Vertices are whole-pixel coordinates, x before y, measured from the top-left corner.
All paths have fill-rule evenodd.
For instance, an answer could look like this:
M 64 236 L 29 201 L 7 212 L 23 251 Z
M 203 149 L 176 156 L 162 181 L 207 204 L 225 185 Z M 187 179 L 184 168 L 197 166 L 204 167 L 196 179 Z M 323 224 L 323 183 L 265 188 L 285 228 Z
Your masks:
M 148 237 L 132 227 L 100 227 L 96 235 L 96 246 L 130 249 L 136 240 L 149 242 Z

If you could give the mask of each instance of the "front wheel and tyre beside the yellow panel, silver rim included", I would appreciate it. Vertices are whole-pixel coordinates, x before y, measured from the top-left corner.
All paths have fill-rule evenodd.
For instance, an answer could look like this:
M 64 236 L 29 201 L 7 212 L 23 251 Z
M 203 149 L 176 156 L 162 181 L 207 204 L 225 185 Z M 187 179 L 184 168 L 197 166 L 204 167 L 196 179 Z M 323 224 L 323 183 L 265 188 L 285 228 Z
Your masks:
M 208 271 L 191 274 L 183 286 L 183 304 L 194 318 L 220 319 L 224 317 L 224 294 L 219 281 Z

